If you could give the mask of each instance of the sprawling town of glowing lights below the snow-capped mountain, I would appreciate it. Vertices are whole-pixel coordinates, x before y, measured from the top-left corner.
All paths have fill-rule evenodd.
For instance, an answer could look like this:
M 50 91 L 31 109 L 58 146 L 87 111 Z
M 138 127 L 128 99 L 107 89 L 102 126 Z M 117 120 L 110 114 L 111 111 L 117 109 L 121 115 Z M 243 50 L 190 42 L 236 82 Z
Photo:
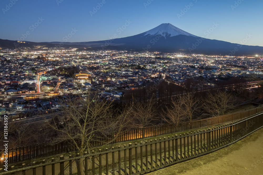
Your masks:
M 262 76 L 262 57 L 86 49 L 1 49 L 1 113 L 22 116 L 58 111 L 57 97 L 97 92 L 120 101 L 126 91 L 165 81 L 185 87 L 187 79 Z M 30 112 L 30 113 L 29 113 Z M 28 114 L 27 114 L 28 113 Z M 19 119 L 19 118 L 17 118 Z

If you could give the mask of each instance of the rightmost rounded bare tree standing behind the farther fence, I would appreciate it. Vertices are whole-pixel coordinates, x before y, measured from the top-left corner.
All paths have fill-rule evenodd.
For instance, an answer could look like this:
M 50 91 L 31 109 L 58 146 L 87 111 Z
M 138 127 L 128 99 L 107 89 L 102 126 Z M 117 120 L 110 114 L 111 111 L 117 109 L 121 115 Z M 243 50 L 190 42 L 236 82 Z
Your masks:
M 234 101 L 234 96 L 224 90 L 208 92 L 206 98 L 203 99 L 203 108 L 214 116 L 224 115 L 227 110 L 236 107 Z

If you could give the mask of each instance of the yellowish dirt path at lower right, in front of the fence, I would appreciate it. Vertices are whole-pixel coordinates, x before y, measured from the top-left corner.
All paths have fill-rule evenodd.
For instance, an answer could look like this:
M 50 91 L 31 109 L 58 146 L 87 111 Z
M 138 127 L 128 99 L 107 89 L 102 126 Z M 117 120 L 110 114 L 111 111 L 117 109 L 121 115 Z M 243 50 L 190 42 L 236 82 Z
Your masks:
M 263 129 L 216 152 L 148 174 L 263 174 Z

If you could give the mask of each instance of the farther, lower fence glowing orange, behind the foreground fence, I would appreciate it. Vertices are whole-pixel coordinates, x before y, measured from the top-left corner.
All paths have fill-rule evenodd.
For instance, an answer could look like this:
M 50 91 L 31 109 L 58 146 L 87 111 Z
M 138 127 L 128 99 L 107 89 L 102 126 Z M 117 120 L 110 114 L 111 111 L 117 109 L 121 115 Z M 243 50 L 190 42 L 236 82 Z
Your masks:
M 263 107 L 258 107 L 238 113 L 232 113 L 222 116 L 211 117 L 202 120 L 195 120 L 191 122 L 184 122 L 179 124 L 163 124 L 163 125 L 155 125 L 145 128 L 137 128 L 131 129 L 128 131 L 121 132 L 117 137 L 114 135 L 113 138 L 116 137 L 114 142 L 122 142 L 129 141 L 134 139 L 141 139 L 150 136 L 158 136 L 164 134 L 172 134 L 176 132 L 183 132 L 188 130 L 200 129 L 204 127 L 226 124 L 229 122 L 233 122 L 236 120 L 244 119 L 246 117 L 250 117 L 256 115 L 257 113 L 263 112 Z M 112 138 L 108 138 L 105 140 L 98 140 L 94 142 L 95 146 L 101 146 L 108 140 L 112 140 Z M 80 142 L 79 142 L 80 144 Z M 8 162 L 18 162 L 29 160 L 32 158 L 38 158 L 43 156 L 52 156 L 63 152 L 75 151 L 76 148 L 70 145 L 68 142 L 61 142 L 58 144 L 51 145 L 50 143 L 39 144 L 39 145 L 29 145 L 24 147 L 16 147 L 8 149 Z M 4 149 L 0 150 L 0 157 L 3 157 Z

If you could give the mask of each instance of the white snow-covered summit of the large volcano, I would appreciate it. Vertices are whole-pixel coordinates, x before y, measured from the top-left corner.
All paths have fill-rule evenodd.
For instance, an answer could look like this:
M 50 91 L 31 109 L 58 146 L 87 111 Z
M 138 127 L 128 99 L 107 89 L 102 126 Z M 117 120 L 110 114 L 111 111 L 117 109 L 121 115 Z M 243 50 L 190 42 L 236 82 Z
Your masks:
M 161 24 L 151 30 L 148 30 L 144 33 L 144 36 L 148 35 L 148 36 L 153 36 L 153 35 L 162 35 L 165 38 L 166 37 L 171 37 L 171 36 L 177 36 L 177 35 L 187 35 L 187 36 L 194 36 L 194 37 L 198 37 L 195 35 L 192 35 L 184 30 L 181 30 L 177 27 L 175 27 L 174 25 L 170 24 L 170 23 L 164 23 Z

